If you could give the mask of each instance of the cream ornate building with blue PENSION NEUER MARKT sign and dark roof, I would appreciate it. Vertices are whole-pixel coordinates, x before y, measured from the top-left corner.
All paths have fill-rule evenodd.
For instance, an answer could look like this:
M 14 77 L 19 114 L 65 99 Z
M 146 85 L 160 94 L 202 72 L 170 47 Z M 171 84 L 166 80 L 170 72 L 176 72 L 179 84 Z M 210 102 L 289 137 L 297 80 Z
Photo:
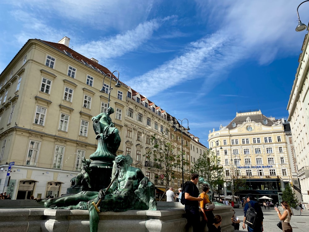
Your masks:
M 269 196 L 280 202 L 282 190 L 292 182 L 289 151 L 281 120 L 265 117 L 260 110 L 236 113 L 236 117 L 219 131 L 210 131 L 209 146 L 220 158 L 226 180 L 237 173 L 246 179 L 248 192 Z M 220 194 L 231 192 L 220 191 Z M 278 201 L 279 200 L 279 201 Z

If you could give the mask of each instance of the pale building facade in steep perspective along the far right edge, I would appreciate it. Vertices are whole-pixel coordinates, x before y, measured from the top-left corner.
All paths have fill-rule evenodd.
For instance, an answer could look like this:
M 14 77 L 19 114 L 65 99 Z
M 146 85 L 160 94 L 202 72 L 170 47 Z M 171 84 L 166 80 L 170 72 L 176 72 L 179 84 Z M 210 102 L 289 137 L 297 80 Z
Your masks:
M 309 203 L 309 81 L 308 81 L 308 34 L 305 36 L 299 56 L 290 99 L 287 105 L 290 127 L 292 131 L 296 169 L 303 202 Z M 299 199 L 300 200 L 300 199 Z

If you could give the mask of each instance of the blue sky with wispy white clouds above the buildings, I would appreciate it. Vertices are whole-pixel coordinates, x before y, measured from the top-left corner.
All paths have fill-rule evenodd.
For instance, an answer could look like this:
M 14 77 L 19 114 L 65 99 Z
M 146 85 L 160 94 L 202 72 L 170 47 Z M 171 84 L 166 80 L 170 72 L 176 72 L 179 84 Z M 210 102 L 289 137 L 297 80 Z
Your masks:
M 208 147 L 236 111 L 286 110 L 304 32 L 291 0 L 2 0 L 0 73 L 30 38 L 95 58 Z M 309 2 L 299 8 L 307 24 Z M 186 121 L 184 120 L 184 126 Z

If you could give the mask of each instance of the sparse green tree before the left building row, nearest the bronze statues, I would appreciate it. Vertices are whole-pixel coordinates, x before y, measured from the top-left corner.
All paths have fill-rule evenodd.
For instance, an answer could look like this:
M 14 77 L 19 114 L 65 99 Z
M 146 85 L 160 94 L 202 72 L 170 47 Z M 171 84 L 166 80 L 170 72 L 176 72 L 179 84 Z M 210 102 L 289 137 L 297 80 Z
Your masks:
M 181 152 L 177 153 L 177 149 L 172 141 L 172 135 L 161 136 L 153 135 L 151 137 L 152 147 L 144 155 L 148 159 L 152 159 L 154 162 L 153 167 L 160 170 L 160 173 L 164 175 L 165 186 L 168 187 L 171 179 L 175 179 L 179 176 L 177 170 L 182 169 L 182 157 Z M 184 156 L 184 168 L 189 163 Z

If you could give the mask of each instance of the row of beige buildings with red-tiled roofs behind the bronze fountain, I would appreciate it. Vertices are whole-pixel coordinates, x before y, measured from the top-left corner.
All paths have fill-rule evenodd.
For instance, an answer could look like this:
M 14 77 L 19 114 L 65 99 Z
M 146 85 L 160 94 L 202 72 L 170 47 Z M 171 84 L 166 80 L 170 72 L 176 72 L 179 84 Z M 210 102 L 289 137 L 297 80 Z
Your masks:
M 121 137 L 117 154 L 129 154 L 132 165 L 141 168 L 162 194 L 162 173 L 146 156 L 150 136 L 169 136 L 180 153 L 182 131 L 184 160 L 189 161 L 190 134 L 176 118 L 124 83 L 116 88 L 117 72 L 112 80 L 107 75 L 103 85 L 104 75 L 112 72 L 69 44 L 68 37 L 58 43 L 30 39 L 0 75 L 1 191 L 12 199 L 65 194 L 80 171 L 81 157 L 89 158 L 96 150 L 91 119 L 106 111 L 111 86 L 111 118 Z M 105 92 L 100 92 L 102 85 Z M 176 189 L 182 170 L 175 171 L 177 178 L 168 185 Z

